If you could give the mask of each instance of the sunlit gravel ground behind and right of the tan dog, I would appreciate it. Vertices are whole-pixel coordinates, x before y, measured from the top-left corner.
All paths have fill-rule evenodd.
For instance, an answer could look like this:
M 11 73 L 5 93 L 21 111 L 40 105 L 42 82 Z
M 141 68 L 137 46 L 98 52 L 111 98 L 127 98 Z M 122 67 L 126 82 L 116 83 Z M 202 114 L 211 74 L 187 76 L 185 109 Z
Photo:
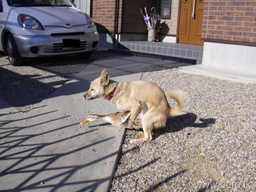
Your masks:
M 164 65 L 149 71 L 141 79 L 165 92 L 185 90 L 191 109 L 154 131 L 151 142 L 130 145 L 142 131 L 127 130 L 109 191 L 256 191 L 256 84 Z

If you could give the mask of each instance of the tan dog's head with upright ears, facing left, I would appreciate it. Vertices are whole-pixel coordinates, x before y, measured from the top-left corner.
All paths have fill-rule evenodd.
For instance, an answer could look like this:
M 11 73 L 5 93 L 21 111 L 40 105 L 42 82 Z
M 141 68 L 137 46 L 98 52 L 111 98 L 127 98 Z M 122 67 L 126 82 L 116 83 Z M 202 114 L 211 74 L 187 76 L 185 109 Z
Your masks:
M 109 84 L 108 70 L 104 68 L 100 76 L 93 80 L 90 84 L 89 90 L 84 94 L 85 99 L 96 99 L 104 96 L 104 90 Z

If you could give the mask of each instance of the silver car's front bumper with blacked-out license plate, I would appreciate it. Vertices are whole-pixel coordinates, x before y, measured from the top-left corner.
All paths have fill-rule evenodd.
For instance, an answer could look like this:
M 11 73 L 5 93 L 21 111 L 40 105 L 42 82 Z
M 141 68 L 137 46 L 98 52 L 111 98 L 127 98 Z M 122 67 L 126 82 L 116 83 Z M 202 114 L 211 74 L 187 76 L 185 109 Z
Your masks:
M 99 46 L 99 33 L 68 33 L 56 36 L 13 35 L 20 56 L 36 58 L 91 52 Z

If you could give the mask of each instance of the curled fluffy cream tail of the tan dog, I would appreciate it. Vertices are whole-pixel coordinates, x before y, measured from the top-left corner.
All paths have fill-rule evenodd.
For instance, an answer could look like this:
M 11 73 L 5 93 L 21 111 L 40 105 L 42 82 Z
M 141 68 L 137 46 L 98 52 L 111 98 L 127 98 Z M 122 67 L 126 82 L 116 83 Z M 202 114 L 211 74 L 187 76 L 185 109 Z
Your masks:
M 185 115 L 189 109 L 189 97 L 182 90 L 170 90 L 167 95 L 172 99 L 177 100 L 177 106 L 170 108 L 169 116 Z

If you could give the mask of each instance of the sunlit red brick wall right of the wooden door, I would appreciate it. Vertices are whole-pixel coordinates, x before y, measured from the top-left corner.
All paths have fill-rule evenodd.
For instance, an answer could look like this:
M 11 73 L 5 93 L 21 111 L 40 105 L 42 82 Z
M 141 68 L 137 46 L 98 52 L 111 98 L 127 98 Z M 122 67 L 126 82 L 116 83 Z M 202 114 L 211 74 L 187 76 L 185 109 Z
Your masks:
M 256 43 L 256 1 L 205 0 L 202 38 Z

